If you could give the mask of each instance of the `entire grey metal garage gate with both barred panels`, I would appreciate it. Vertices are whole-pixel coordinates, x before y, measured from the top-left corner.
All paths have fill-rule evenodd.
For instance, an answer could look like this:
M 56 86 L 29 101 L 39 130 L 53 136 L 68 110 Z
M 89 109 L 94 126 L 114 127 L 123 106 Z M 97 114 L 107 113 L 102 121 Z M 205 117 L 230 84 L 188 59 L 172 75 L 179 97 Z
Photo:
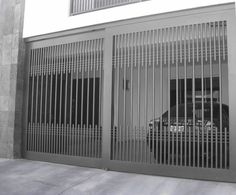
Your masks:
M 219 12 L 31 42 L 26 157 L 235 181 L 232 21 Z

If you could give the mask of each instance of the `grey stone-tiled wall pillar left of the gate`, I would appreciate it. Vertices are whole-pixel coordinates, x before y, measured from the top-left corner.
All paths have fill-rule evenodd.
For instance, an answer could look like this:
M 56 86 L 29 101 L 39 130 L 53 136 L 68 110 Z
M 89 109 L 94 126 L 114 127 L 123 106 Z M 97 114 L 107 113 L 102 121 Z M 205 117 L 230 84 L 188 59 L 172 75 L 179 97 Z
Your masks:
M 21 156 L 24 0 L 0 0 L 0 157 Z

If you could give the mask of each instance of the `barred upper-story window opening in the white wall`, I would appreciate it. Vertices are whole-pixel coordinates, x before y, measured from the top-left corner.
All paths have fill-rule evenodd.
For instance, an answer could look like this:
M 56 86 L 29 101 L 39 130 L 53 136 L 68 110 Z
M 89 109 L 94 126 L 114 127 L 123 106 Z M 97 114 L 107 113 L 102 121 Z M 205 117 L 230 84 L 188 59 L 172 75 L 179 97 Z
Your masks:
M 71 15 L 147 0 L 71 0 Z

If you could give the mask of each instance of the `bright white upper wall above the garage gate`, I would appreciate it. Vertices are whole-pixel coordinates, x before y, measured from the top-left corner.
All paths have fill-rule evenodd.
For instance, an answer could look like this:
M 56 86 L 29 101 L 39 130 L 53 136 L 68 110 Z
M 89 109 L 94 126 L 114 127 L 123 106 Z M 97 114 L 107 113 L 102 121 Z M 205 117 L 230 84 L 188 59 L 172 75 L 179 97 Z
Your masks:
M 150 0 L 69 16 L 70 0 L 25 0 L 23 37 L 32 37 L 99 23 L 164 13 L 234 0 Z

